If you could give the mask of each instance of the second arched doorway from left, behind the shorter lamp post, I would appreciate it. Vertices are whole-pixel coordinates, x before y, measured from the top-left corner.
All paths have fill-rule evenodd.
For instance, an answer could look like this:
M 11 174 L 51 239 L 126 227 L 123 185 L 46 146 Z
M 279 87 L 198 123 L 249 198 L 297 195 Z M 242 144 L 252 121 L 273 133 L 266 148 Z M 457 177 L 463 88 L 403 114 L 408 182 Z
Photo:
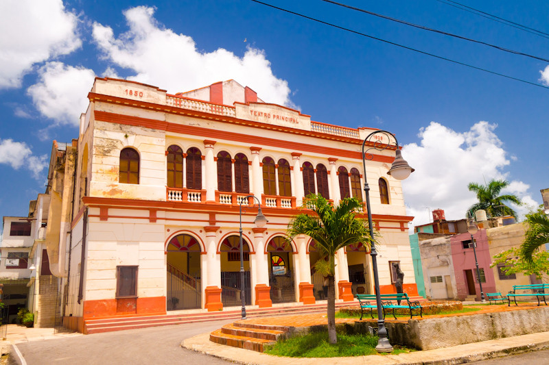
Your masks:
M 221 253 L 221 302 L 223 307 L 242 305 L 242 286 L 240 285 L 240 237 L 226 237 L 220 246 Z M 250 246 L 242 238 L 242 257 L 244 259 L 244 297 L 246 305 L 252 303 L 252 285 L 250 280 Z

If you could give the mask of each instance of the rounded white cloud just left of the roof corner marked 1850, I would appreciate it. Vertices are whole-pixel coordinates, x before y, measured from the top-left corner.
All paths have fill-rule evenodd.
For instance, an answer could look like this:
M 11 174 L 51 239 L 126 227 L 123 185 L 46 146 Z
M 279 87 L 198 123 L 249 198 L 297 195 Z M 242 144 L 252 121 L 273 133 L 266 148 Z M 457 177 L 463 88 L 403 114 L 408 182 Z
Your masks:
M 38 70 L 39 81 L 27 90 L 38 111 L 54 125 L 78 126 L 86 111 L 95 73 L 89 68 L 48 62 Z

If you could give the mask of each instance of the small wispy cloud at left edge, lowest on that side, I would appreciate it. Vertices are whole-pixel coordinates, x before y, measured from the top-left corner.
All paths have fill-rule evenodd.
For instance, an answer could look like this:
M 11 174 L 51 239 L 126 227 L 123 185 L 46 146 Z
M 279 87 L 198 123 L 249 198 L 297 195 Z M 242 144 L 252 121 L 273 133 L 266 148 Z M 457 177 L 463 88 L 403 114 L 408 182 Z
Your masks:
M 25 142 L 0 140 L 0 164 L 8 164 L 16 170 L 27 168 L 35 179 L 40 179 L 40 173 L 47 166 L 47 155 L 33 155 Z

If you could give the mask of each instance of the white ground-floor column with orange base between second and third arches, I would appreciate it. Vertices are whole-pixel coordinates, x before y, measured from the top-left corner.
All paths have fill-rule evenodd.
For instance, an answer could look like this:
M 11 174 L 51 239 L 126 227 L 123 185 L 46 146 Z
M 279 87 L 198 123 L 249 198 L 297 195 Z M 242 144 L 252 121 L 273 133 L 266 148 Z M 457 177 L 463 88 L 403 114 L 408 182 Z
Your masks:
M 265 253 L 264 227 L 253 227 L 255 243 L 255 305 L 260 308 L 272 307 L 270 300 L 268 255 Z

